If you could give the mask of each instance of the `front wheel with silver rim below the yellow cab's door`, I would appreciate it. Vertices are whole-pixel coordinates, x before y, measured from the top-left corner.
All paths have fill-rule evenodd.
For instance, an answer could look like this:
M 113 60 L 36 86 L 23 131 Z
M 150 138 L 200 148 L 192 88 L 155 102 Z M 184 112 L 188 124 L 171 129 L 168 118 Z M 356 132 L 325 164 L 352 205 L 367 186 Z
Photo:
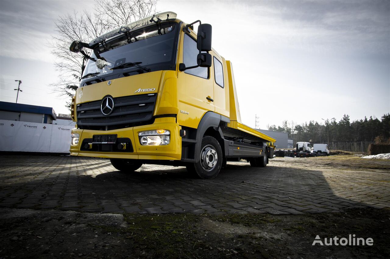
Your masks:
M 218 141 L 211 136 L 203 137 L 199 156 L 197 163 L 186 166 L 187 171 L 201 179 L 215 178 L 223 162 L 222 149 Z

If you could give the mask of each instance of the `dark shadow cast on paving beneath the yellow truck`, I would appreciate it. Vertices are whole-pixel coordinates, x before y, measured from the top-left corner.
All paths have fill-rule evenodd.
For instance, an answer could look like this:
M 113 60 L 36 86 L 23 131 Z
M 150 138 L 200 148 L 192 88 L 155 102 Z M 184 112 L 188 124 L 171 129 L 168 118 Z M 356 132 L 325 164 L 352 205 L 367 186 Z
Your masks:
M 201 212 L 299 214 L 367 207 L 356 199 L 337 196 L 320 170 L 252 168 L 243 163 L 228 165 L 215 179 L 202 180 L 188 175 L 183 167 L 154 168 L 144 165 L 139 172 L 112 171 L 95 178 L 82 176 L 80 184 L 81 188 L 94 187 L 97 202 L 114 200 L 141 211 L 152 207 L 168 212 L 176 211 L 170 208 L 182 208 Z M 104 188 L 99 188 L 102 183 Z

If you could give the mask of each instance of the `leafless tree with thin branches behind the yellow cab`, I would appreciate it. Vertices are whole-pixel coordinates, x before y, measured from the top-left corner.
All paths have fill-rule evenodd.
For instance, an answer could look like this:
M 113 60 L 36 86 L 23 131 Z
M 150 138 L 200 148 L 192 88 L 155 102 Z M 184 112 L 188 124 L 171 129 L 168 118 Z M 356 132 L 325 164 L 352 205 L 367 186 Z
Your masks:
M 69 51 L 73 40 L 90 42 L 105 32 L 114 30 L 156 12 L 158 0 L 95 0 L 94 12 L 86 10 L 58 17 L 56 35 L 49 43 L 59 72 L 58 81 L 52 84 L 60 96 L 72 97 L 77 89 L 82 71 L 83 56 Z M 86 50 L 87 54 L 91 52 Z M 70 108 L 70 101 L 67 102 Z

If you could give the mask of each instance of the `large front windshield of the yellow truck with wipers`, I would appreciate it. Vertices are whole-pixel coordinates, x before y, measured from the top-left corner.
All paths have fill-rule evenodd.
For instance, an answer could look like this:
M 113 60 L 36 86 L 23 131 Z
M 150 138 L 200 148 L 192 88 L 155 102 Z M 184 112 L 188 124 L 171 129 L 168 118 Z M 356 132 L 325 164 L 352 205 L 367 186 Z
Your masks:
M 126 63 L 135 63 L 150 71 L 174 70 L 178 38 L 178 33 L 175 33 L 176 27 L 178 26 L 173 22 L 159 23 L 103 42 L 99 46 L 99 54 L 108 65 L 99 69 L 95 61 L 88 60 L 83 77 L 90 75 L 84 80 L 89 80 L 90 77 L 103 77 L 107 80 L 107 77 L 113 79 L 119 77 L 119 74 L 122 77 L 122 75 L 129 75 L 129 72 L 145 72 L 145 70 L 139 71 L 140 68 L 137 66 L 124 65 Z M 94 53 L 91 57 L 96 59 Z M 117 66 L 120 67 L 117 69 Z

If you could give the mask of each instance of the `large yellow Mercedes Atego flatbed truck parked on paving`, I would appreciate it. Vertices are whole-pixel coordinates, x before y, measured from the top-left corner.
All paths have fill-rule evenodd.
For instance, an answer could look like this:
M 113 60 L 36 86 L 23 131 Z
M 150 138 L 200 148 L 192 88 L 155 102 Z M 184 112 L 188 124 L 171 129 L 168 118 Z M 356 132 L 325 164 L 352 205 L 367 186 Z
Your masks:
M 265 167 L 275 139 L 241 123 L 232 63 L 211 35 L 209 24 L 164 12 L 74 41 L 70 51 L 86 64 L 72 100 L 71 155 L 110 158 L 127 172 L 186 166 L 202 179 L 231 160 Z

